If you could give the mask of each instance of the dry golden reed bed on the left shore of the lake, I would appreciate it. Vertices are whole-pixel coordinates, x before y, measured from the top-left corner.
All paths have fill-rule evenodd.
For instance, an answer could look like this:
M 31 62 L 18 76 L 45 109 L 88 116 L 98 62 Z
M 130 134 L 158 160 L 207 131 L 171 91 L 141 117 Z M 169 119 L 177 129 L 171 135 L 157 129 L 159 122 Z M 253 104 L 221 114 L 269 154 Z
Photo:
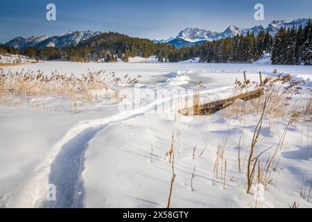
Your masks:
M 112 77 L 112 76 L 111 76 Z M 98 99 L 110 97 L 120 98 L 119 79 L 108 78 L 105 71 L 83 74 L 60 74 L 53 71 L 51 75 L 43 71 L 8 71 L 0 68 L 0 104 L 12 103 L 17 99 L 26 100 L 35 96 L 60 96 L 70 101 L 90 103 Z

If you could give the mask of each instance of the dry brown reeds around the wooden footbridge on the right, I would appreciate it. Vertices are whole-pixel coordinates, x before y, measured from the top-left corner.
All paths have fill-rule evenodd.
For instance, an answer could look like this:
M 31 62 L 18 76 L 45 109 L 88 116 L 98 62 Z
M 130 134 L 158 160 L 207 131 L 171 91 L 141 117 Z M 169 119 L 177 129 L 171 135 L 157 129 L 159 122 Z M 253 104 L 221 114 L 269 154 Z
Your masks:
M 223 115 L 225 117 L 239 117 L 245 114 L 261 114 L 263 104 L 266 103 L 265 114 L 271 118 L 293 117 L 293 120 L 300 119 L 311 113 L 312 94 L 309 92 L 307 99 L 298 100 L 296 97 L 303 97 L 303 90 L 300 83 L 303 81 L 293 80 L 290 75 L 277 76 L 277 78 L 267 77 L 261 84 L 244 82 L 236 80 L 236 94 L 241 94 L 248 89 L 263 88 L 266 95 L 270 94 L 270 99 L 266 101 L 266 96 L 260 96 L 250 101 L 236 100 L 230 105 Z M 294 98 L 295 97 L 295 98 Z M 301 104 L 305 101 L 306 104 Z M 310 110 L 310 111 L 308 111 Z

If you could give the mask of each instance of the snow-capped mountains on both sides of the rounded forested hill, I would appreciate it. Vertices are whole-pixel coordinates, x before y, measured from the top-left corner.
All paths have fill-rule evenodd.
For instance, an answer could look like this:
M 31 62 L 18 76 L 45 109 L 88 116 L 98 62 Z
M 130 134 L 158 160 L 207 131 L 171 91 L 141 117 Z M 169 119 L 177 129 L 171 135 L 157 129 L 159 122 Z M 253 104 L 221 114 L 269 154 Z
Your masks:
M 220 40 L 226 37 L 234 37 L 235 35 L 246 35 L 249 33 L 254 33 L 257 35 L 260 31 L 268 31 L 271 35 L 276 35 L 279 28 L 298 28 L 300 25 L 305 26 L 308 19 L 295 19 L 292 22 L 287 22 L 286 20 L 273 21 L 268 24 L 268 27 L 254 26 L 252 28 L 238 28 L 236 26 L 229 26 L 223 32 L 207 31 L 200 28 L 185 28 L 180 31 L 176 37 L 170 37 L 167 40 L 152 40 L 155 43 L 166 43 L 172 44 L 177 48 L 182 46 L 192 46 L 195 44 L 202 44 L 205 42 L 211 42 L 214 40 Z M 34 46 L 38 49 L 42 49 L 46 46 L 63 48 L 71 45 L 77 45 L 84 40 L 101 34 L 101 32 L 93 31 L 69 31 L 62 35 L 49 37 L 47 35 L 32 36 L 27 39 L 23 37 L 15 37 L 14 39 L 6 42 L 6 46 L 14 46 L 17 49 L 23 49 L 28 46 Z

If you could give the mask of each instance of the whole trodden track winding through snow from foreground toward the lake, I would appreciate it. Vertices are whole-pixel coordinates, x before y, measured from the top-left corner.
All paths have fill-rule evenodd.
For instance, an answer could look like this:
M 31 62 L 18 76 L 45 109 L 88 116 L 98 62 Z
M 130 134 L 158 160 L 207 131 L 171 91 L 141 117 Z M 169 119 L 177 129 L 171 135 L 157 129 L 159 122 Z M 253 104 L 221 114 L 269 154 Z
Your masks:
M 230 87 L 229 87 L 230 88 Z M 208 89 L 202 93 L 214 92 L 219 89 Z M 184 98 L 178 95 L 174 99 Z M 111 123 L 120 123 L 152 111 L 156 105 L 173 99 L 168 96 L 157 99 L 144 107 L 135 110 L 120 112 L 112 117 L 82 121 L 56 144 L 48 159 L 42 163 L 40 170 L 25 187 L 19 197 L 22 207 L 83 207 L 83 180 L 81 173 L 84 170 L 85 149 L 90 139 Z M 46 186 L 53 184 L 56 187 L 56 201 L 46 200 Z M 31 191 L 31 194 L 29 194 Z M 25 201 L 27 200 L 27 201 Z

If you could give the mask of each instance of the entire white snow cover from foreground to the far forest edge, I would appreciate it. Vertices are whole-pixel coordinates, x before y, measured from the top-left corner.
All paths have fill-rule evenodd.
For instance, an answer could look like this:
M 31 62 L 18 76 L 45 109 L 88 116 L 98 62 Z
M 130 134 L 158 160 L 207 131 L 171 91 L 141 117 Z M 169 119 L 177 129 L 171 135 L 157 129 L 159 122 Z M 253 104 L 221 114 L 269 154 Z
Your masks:
M 305 80 L 302 94 L 294 96 L 303 106 L 312 67 L 133 62 L 2 68 L 3 73 L 40 70 L 77 77 L 101 71 L 114 90 L 95 91 L 92 101 L 46 94 L 0 104 L 0 207 L 167 207 L 173 172 L 166 153 L 172 140 L 171 207 L 289 207 L 294 202 L 312 207 L 311 119 L 288 124 L 288 117 L 263 117 L 256 155 L 263 166 L 276 155 L 278 164 L 266 187 L 253 185 L 247 194 L 247 156 L 261 114 L 229 115 L 230 107 L 209 116 L 177 112 L 192 104 L 194 90 L 201 102 L 232 96 L 243 71 L 257 82 L 259 71 L 263 78 L 291 74 Z M 48 185 L 55 185 L 56 200 L 47 200 Z

